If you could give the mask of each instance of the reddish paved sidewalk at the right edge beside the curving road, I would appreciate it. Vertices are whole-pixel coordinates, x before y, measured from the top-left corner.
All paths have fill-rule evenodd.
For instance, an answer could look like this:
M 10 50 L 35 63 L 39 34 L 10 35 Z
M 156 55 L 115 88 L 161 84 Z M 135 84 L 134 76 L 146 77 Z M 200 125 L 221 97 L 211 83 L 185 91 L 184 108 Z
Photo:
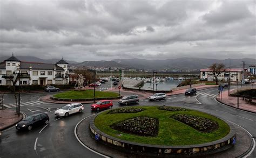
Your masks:
M 235 89 L 232 89 L 232 90 L 235 90 Z M 232 90 L 230 90 L 230 92 Z M 227 90 L 223 91 L 222 98 L 220 99 L 218 97 L 217 100 L 223 104 L 237 108 L 237 97 L 228 96 Z M 245 100 L 242 100 L 241 97 L 239 97 L 239 109 L 256 113 L 256 106 L 246 103 Z

